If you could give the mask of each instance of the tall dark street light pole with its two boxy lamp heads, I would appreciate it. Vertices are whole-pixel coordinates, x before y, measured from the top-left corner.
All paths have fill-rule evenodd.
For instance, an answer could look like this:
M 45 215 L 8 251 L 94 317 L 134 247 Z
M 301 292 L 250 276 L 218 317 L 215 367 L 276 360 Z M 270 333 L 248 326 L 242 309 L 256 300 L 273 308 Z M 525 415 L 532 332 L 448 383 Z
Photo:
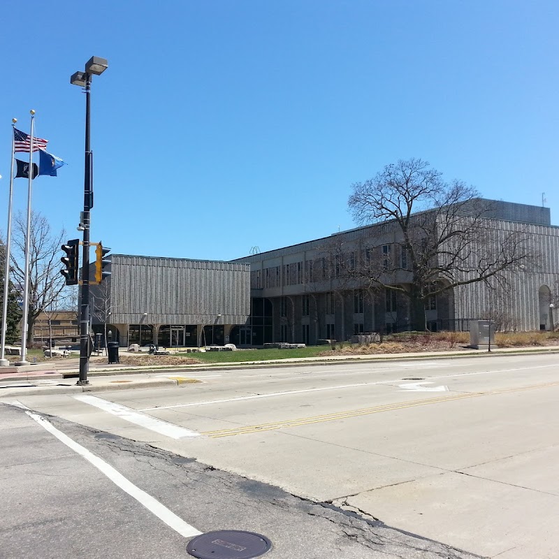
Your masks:
M 85 177 L 83 200 L 83 257 L 82 297 L 80 309 L 80 378 L 76 384 L 89 384 L 89 212 L 93 206 L 93 158 L 91 150 L 91 83 L 92 75 L 100 75 L 108 68 L 104 58 L 91 57 L 85 64 L 85 72 L 75 72 L 70 78 L 72 85 L 85 87 Z

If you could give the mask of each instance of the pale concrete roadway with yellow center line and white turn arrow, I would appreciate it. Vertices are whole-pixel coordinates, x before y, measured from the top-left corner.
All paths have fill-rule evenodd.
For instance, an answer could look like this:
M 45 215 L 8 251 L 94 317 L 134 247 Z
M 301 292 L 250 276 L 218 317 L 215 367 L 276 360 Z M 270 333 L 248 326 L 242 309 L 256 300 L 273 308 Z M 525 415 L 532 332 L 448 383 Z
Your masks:
M 352 517 L 338 509 L 353 511 L 370 530 L 379 519 L 479 556 L 546 559 L 559 549 L 556 363 L 555 355 L 517 355 L 251 368 L 201 372 L 192 375 L 201 382 L 178 389 L 17 399 L 197 458 L 219 475 L 270 484 L 339 518 Z M 199 530 L 216 529 L 192 512 Z M 312 538 L 314 525 L 306 528 Z M 293 557 L 344 557 L 331 551 Z

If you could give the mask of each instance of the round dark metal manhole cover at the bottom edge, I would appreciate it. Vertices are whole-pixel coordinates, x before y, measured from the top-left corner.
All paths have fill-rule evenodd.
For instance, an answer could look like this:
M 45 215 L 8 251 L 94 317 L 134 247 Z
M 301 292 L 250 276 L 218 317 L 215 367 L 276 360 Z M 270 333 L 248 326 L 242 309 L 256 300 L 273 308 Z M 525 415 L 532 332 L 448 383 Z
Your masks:
M 191 539 L 187 551 L 199 559 L 249 559 L 263 555 L 271 546 L 267 537 L 254 532 L 218 530 Z

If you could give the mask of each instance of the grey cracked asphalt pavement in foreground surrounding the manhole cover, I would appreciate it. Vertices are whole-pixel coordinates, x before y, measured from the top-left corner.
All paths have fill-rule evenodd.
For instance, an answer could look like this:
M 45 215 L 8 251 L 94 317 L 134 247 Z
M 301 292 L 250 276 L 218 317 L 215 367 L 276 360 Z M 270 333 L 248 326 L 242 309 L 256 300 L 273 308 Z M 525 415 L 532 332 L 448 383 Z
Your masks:
M 473 557 L 61 419 L 0 404 L 0 422 L 2 558 L 176 559 L 213 530 L 265 535 L 270 559 Z

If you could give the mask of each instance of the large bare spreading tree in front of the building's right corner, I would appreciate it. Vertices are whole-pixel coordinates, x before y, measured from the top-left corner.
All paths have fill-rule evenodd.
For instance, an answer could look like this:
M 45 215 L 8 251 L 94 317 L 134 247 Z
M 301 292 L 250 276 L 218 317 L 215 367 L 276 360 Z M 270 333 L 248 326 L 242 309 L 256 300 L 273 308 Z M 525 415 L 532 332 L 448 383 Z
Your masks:
M 492 228 L 488 201 L 464 182 L 445 182 L 426 161 L 400 160 L 351 188 L 349 210 L 356 222 L 385 222 L 395 241 L 386 249 L 365 247 L 349 275 L 364 286 L 406 296 L 417 329 L 426 327 L 428 300 L 528 261 L 522 227 Z

